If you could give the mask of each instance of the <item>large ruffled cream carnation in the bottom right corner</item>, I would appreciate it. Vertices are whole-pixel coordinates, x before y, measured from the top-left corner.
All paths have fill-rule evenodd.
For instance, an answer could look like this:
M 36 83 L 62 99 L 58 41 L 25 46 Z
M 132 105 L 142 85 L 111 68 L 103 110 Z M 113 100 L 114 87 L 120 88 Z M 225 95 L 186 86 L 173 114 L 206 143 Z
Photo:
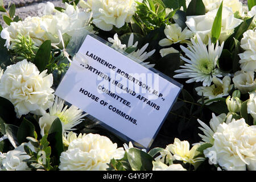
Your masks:
M 212 147 L 204 150 L 209 159 L 212 154 L 216 162 L 225 170 L 246 170 L 246 165 L 256 163 L 256 127 L 248 126 L 245 119 L 222 123 L 213 135 Z

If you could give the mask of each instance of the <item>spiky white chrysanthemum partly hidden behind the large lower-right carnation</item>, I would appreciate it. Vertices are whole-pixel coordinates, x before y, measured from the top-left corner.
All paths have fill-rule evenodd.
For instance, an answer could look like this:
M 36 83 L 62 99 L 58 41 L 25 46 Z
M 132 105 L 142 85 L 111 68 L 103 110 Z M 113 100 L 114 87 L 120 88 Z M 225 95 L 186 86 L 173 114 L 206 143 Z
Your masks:
M 224 114 L 224 113 L 220 114 L 218 116 L 216 116 L 214 113 L 212 113 L 212 119 L 210 119 L 210 122 L 209 122 L 210 127 L 207 126 L 200 119 L 197 119 L 199 124 L 202 126 L 202 127 L 199 127 L 199 129 L 204 132 L 204 135 L 202 135 L 202 134 L 198 134 L 198 135 L 201 137 L 201 139 L 204 142 L 213 144 L 213 142 L 214 142 L 213 134 L 217 131 L 218 125 L 220 125 L 221 123 L 224 122 L 225 118 L 226 118 L 226 114 Z M 228 121 L 228 119 L 227 119 L 227 121 Z M 200 143 L 203 143 L 203 142 L 200 142 Z

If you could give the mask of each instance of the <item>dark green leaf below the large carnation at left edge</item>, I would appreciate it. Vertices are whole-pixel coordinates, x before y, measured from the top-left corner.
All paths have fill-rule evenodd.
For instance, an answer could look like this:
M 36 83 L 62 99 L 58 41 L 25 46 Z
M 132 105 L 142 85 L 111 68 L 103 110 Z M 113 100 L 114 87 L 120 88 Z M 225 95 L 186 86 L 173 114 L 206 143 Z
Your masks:
M 17 139 L 19 144 L 27 142 L 27 137 L 34 137 L 35 126 L 28 121 L 26 118 L 23 118 L 22 123 L 19 126 Z

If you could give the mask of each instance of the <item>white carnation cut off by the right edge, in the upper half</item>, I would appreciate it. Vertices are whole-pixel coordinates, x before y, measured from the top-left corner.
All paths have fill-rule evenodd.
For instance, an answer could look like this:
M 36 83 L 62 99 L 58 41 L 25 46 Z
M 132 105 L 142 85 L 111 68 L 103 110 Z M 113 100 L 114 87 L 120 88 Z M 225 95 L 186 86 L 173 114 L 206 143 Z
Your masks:
M 256 30 L 247 30 L 243 34 L 241 47 L 245 52 L 240 53 L 242 71 L 256 71 Z

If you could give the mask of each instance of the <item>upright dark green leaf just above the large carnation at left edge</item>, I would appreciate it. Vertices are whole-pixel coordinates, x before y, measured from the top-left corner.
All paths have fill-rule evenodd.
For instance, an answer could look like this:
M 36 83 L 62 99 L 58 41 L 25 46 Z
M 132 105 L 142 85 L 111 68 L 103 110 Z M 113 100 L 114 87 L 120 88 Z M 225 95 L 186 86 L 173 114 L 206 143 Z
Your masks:
M 36 53 L 34 64 L 42 72 L 46 69 L 46 65 L 49 63 L 51 57 L 51 41 L 46 40 L 38 49 Z

